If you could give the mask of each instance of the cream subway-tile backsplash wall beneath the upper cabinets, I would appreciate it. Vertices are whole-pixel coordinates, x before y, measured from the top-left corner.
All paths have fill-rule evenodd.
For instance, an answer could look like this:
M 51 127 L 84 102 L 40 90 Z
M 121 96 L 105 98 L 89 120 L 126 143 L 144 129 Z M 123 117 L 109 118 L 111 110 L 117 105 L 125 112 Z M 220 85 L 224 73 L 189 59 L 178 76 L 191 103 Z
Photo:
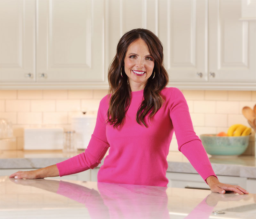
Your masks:
M 253 107 L 256 91 L 182 90 L 188 102 L 197 135 L 227 132 L 230 125 L 247 125 L 244 106 Z M 0 117 L 10 119 L 16 142 L 0 145 L 2 150 L 22 150 L 25 127 L 70 128 L 71 117 L 86 110 L 96 113 L 108 90 L 0 90 Z M 254 132 L 245 155 L 254 155 Z M 177 151 L 172 140 L 170 151 Z

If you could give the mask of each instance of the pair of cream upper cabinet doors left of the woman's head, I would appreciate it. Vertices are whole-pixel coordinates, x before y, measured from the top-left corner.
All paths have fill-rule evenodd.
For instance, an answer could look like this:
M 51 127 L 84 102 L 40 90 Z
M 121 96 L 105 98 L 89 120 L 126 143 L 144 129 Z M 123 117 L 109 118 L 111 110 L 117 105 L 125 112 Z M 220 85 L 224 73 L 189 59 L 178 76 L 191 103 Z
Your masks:
M 103 0 L 0 0 L 0 82 L 104 82 L 104 22 Z

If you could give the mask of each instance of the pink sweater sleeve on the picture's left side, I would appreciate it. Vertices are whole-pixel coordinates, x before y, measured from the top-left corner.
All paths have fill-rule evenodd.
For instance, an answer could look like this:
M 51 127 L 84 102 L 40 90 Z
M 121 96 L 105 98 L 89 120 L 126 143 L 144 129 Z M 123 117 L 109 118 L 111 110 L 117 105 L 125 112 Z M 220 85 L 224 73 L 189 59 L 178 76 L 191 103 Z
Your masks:
M 98 166 L 106 154 L 109 144 L 106 137 L 106 109 L 108 107 L 107 96 L 100 101 L 96 125 L 85 151 L 79 155 L 57 163 L 60 176 L 70 175 Z

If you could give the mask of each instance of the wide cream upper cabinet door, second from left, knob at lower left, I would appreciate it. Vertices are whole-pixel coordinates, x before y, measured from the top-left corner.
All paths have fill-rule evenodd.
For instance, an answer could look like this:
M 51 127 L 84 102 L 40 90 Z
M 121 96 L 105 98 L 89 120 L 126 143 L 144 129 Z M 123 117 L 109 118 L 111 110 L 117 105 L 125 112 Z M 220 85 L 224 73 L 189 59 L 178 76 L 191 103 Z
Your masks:
M 104 81 L 103 0 L 39 0 L 36 80 Z

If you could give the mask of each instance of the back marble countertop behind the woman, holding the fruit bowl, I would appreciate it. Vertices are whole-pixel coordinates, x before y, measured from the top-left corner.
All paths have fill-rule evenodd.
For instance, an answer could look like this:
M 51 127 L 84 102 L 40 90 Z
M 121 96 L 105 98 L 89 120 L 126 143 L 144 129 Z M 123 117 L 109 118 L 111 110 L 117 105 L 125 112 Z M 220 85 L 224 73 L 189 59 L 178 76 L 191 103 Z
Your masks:
M 83 151 L 80 151 L 80 153 Z M 42 168 L 68 159 L 76 154 L 63 154 L 61 150 L 0 151 L 0 169 Z M 256 178 L 254 156 L 209 157 L 216 175 Z M 167 172 L 196 173 L 181 152 L 170 152 L 167 156 Z M 102 160 L 100 167 L 104 160 Z

